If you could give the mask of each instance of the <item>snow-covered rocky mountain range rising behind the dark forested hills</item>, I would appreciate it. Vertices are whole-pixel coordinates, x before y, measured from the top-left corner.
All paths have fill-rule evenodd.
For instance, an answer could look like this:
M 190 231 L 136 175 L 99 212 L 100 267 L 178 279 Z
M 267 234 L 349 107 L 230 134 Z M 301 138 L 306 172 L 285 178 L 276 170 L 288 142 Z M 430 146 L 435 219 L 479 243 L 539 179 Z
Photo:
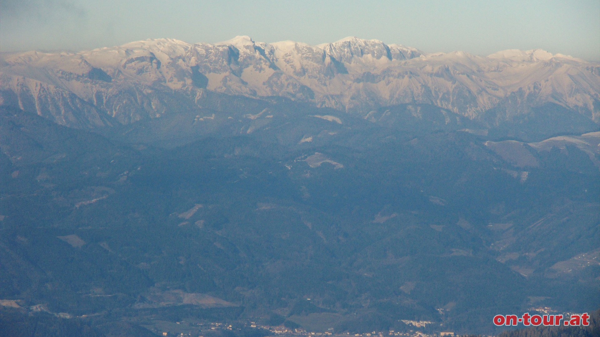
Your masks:
M 213 93 L 285 97 L 366 116 L 432 104 L 510 121 L 554 103 L 600 122 L 600 64 L 544 50 L 427 54 L 379 40 L 310 46 L 247 36 L 208 44 L 137 41 L 78 53 L 4 53 L 0 104 L 98 127 L 199 109 Z

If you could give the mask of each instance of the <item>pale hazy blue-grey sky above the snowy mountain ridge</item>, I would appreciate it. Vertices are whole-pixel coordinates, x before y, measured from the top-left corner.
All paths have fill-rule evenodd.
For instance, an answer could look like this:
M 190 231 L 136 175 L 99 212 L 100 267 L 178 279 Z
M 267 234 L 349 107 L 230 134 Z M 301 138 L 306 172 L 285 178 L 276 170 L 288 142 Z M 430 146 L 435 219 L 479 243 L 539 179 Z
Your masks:
M 599 61 L 600 1 L 0 0 L 2 51 L 235 35 L 310 44 L 352 35 L 478 55 L 541 48 Z

